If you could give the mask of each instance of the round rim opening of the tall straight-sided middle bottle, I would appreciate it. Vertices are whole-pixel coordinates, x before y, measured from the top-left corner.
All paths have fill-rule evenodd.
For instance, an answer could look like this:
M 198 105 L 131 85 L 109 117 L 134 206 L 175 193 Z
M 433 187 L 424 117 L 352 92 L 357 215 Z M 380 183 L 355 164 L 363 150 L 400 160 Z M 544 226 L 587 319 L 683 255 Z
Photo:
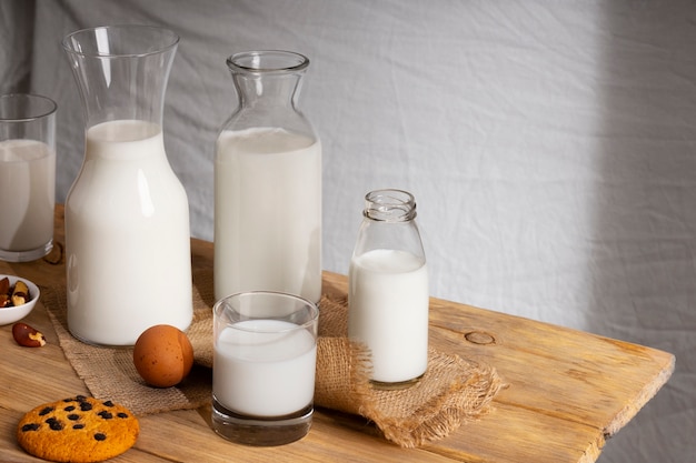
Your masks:
M 227 66 L 231 70 L 240 72 L 300 72 L 309 66 L 309 58 L 285 50 L 243 51 L 229 57 Z

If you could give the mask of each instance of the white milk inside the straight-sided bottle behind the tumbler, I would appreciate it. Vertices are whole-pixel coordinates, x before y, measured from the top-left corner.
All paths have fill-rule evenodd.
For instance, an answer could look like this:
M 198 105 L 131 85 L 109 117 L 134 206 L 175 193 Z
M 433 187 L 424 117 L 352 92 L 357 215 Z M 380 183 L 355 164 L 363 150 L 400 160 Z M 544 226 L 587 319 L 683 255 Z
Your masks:
M 321 145 L 281 129 L 222 131 L 215 164 L 215 295 L 321 296 Z

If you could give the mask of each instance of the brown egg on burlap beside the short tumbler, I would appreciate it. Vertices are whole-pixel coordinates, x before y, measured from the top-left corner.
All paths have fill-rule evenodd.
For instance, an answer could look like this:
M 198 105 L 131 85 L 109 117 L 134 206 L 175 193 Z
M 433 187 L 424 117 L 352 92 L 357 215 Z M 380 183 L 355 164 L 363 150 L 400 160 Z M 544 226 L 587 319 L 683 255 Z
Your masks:
M 193 348 L 176 326 L 148 328 L 136 341 L 133 364 L 142 379 L 156 387 L 179 384 L 193 366 Z

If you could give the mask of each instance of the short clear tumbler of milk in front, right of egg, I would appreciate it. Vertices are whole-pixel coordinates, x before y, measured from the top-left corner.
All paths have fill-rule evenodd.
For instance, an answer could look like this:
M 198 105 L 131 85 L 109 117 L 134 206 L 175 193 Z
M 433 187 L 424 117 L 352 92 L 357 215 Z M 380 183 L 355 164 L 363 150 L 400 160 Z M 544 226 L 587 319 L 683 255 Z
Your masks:
M 213 306 L 212 429 L 269 446 L 311 426 L 319 310 L 279 292 L 236 293 Z

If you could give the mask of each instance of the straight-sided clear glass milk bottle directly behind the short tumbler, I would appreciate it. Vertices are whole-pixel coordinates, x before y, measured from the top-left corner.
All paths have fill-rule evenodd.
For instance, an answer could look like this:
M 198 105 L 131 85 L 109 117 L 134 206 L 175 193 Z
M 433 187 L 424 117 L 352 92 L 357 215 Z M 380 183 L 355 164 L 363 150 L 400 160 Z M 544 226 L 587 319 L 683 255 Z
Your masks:
M 250 51 L 227 60 L 238 105 L 215 155 L 215 295 L 321 295 L 321 144 L 298 111 L 309 60 Z

